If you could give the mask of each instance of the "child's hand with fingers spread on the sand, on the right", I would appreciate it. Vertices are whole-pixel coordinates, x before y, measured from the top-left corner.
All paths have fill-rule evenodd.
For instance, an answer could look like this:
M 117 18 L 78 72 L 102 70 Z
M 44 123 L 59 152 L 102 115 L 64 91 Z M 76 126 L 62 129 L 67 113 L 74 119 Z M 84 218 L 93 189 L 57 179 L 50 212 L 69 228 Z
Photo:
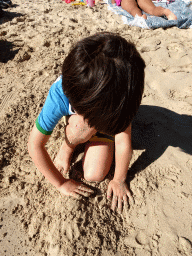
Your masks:
M 115 207 L 118 206 L 118 210 L 121 213 L 123 204 L 126 206 L 128 205 L 128 198 L 133 203 L 133 198 L 125 182 L 111 180 L 108 185 L 107 198 L 111 198 L 112 193 L 111 209 L 113 211 L 115 210 Z

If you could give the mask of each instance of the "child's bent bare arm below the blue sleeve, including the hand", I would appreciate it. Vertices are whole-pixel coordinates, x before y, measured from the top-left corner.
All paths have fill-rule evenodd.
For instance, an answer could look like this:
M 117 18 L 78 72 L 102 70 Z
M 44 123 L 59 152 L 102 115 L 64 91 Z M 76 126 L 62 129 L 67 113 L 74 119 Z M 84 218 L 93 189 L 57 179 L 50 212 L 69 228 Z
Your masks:
M 33 127 L 29 137 L 28 150 L 37 169 L 64 195 L 78 197 L 78 194 L 86 196 L 92 193 L 92 190 L 83 184 L 65 179 L 57 170 L 45 148 L 49 138 L 50 135 L 44 135 L 36 126 Z

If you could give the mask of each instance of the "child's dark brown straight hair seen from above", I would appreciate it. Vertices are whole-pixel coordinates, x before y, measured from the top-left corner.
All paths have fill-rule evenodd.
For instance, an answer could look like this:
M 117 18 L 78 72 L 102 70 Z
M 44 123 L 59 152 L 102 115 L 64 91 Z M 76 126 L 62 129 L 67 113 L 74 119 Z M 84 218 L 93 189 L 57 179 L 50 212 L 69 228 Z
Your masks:
M 87 37 L 62 67 L 62 87 L 91 127 L 110 135 L 130 125 L 141 103 L 145 62 L 131 42 L 113 33 Z

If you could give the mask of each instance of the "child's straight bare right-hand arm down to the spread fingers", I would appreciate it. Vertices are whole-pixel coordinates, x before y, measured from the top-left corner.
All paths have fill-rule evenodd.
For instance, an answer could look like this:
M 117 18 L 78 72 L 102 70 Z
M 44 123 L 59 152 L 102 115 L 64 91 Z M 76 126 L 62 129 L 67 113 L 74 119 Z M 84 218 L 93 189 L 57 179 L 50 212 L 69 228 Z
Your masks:
M 118 205 L 118 209 L 122 211 L 122 204 L 127 204 L 127 199 L 132 200 L 130 191 L 125 182 L 130 160 L 132 157 L 131 146 L 131 125 L 125 132 L 115 136 L 115 174 L 113 180 L 109 183 L 107 196 L 112 198 L 112 209 Z M 127 198 L 128 197 L 128 198 Z

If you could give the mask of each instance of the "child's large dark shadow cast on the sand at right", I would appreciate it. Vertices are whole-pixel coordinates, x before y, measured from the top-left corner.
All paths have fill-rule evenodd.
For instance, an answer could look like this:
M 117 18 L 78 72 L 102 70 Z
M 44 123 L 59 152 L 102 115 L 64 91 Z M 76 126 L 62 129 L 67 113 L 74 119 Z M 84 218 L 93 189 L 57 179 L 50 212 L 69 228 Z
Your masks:
M 133 149 L 145 149 L 133 163 L 128 183 L 169 147 L 192 155 L 192 116 L 180 115 L 162 107 L 141 105 L 133 121 Z

